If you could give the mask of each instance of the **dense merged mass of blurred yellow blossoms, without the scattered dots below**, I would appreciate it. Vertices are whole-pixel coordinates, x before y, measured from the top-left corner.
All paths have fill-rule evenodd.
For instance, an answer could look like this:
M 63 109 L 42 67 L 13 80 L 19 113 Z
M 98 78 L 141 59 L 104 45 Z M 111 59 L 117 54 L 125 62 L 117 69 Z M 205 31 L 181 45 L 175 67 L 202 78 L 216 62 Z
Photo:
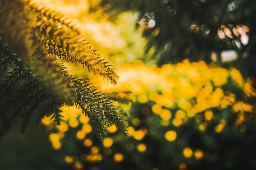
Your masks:
M 140 60 L 134 64 L 125 64 L 119 70 L 119 83 L 113 87 L 100 79 L 94 83 L 101 86 L 103 91 L 112 91 L 114 88 L 122 91 L 132 91 L 134 100 L 140 103 L 153 101 L 151 110 L 162 118 L 161 124 L 168 126 L 171 118 L 174 126 L 186 123 L 187 118 L 194 117 L 197 113 L 205 112 L 205 121 L 214 117 L 212 108 L 224 109 L 233 106 L 235 112 L 253 112 L 254 107 L 236 100 L 236 95 L 223 91 L 222 86 L 228 83 L 231 77 L 233 85 L 245 91 L 247 96 L 255 95 L 252 81 L 243 80 L 242 75 L 235 68 L 230 70 L 219 68 L 205 62 L 189 62 L 172 65 L 166 64 L 161 68 L 147 66 Z M 179 108 L 175 113 L 171 110 Z M 143 114 L 147 115 L 150 109 L 144 108 Z M 138 125 L 137 118 L 132 124 Z M 201 129 L 204 129 L 202 125 Z M 141 133 L 142 134 L 142 133 Z

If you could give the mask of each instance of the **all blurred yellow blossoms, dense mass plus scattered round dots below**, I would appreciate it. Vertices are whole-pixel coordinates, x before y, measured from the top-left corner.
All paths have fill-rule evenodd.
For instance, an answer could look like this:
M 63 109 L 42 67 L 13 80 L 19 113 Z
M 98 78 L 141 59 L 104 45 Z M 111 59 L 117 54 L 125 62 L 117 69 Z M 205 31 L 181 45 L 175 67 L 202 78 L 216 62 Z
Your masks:
M 137 60 L 134 64 L 126 64 L 119 70 L 119 84 L 112 86 L 106 84 L 100 79 L 92 80 L 97 86 L 105 92 L 115 91 L 132 91 L 130 96 L 134 101 L 141 104 L 151 102 L 150 106 L 144 105 L 140 112 L 141 115 L 147 117 L 150 113 L 157 115 L 161 119 L 161 125 L 166 128 L 179 128 L 189 121 L 192 117 L 198 123 L 200 131 L 206 130 L 212 120 L 216 120 L 214 108 L 222 110 L 228 106 L 231 111 L 237 113 L 237 120 L 234 122 L 237 126 L 242 126 L 246 120 L 245 113 L 253 113 L 254 106 L 242 102 L 236 98 L 234 93 L 222 90 L 222 86 L 228 83 L 228 78 L 232 79 L 233 86 L 240 88 L 245 92 L 247 97 L 254 96 L 252 81 L 243 80 L 239 71 L 232 68 L 218 68 L 214 65 L 207 65 L 204 62 L 189 62 L 184 60 L 179 64 L 166 64 L 161 68 L 156 66 L 146 66 L 143 62 Z M 129 109 L 126 108 L 127 110 Z M 78 129 L 75 133 L 76 139 L 83 142 L 85 148 L 89 148 L 89 154 L 82 154 L 81 160 L 88 162 L 99 162 L 103 159 L 100 153 L 100 148 L 94 145 L 94 141 L 87 137 L 92 131 L 88 124 L 89 119 L 82 115 L 80 110 L 75 106 L 65 106 L 63 110 L 63 124 L 56 128 L 57 132 L 50 135 L 50 141 L 55 149 L 61 148 L 61 139 L 65 137 L 65 132 L 70 129 Z M 199 114 L 201 113 L 201 114 Z M 45 117 L 42 123 L 49 129 L 51 126 L 51 117 Z M 136 152 L 143 153 L 147 150 L 147 145 L 143 142 L 144 137 L 148 135 L 148 129 L 142 126 L 143 119 L 139 115 L 135 115 L 130 120 L 128 133 L 140 143 L 127 143 L 125 148 L 131 151 L 135 148 Z M 225 128 L 226 120 L 220 119 L 214 130 L 216 133 L 221 133 Z M 110 126 L 110 133 L 115 133 L 117 127 Z M 166 130 L 163 137 L 167 142 L 171 143 L 180 137 L 178 130 Z M 112 156 L 116 162 L 121 162 L 124 159 L 123 153 L 112 153 L 112 146 L 120 139 L 108 137 L 103 140 L 102 152 L 106 156 Z M 183 150 L 185 158 L 190 158 L 194 155 L 195 159 L 204 158 L 205 153 L 200 150 L 192 150 L 187 147 Z M 79 160 L 74 161 L 71 157 L 65 157 L 67 163 L 74 163 L 74 167 L 79 169 L 83 167 L 83 163 Z M 180 163 L 179 169 L 186 169 L 185 163 Z

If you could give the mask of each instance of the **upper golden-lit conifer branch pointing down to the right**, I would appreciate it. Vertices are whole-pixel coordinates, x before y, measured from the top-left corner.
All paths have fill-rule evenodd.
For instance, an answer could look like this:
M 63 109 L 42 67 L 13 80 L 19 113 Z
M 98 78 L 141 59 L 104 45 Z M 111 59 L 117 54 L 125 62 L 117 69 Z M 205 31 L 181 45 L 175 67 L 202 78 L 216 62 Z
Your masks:
M 51 14 L 49 13 L 47 16 L 49 17 Z M 80 34 L 74 34 L 72 30 L 67 31 L 65 27 L 60 27 L 58 23 L 51 22 L 50 19 L 43 19 L 39 15 L 37 20 L 40 22 L 36 26 L 38 35 L 49 54 L 54 54 L 61 60 L 80 63 L 94 74 L 103 75 L 112 84 L 117 84 L 119 77 L 115 73 L 112 64 L 99 55 L 99 52 L 94 49 L 90 42 L 84 40 Z

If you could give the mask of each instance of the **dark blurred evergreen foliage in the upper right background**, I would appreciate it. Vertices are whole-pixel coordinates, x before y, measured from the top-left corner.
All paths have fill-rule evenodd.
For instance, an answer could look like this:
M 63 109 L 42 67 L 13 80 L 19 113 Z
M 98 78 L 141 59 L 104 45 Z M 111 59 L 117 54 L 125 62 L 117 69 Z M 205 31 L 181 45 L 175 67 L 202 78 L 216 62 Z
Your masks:
M 216 62 L 222 64 L 221 53 L 232 50 L 238 60 L 222 66 L 236 66 L 243 75 L 256 76 L 255 0 L 102 0 L 91 11 L 99 7 L 112 20 L 124 11 L 137 12 L 137 26 L 144 28 L 148 38 L 146 52 L 155 51 L 159 65 L 186 58 L 209 63 L 213 53 Z M 236 32 L 243 25 L 249 28 L 249 42 Z M 223 29 L 224 35 L 219 37 L 218 30 Z

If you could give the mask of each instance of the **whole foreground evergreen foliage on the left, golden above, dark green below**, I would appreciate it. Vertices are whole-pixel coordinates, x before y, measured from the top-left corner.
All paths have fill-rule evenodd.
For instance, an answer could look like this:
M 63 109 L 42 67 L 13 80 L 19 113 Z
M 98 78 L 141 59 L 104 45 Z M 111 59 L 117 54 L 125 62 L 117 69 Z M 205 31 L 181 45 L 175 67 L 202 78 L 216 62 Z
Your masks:
M 130 100 L 117 93 L 108 97 L 65 68 L 63 61 L 78 63 L 112 84 L 119 78 L 112 64 L 61 14 L 29 1 L 0 0 L 0 31 L 0 140 L 17 117 L 23 119 L 22 132 L 33 113 L 38 122 L 52 115 L 60 125 L 60 107 L 65 104 L 83 110 L 99 139 L 112 124 L 127 135 L 127 115 L 111 98 Z

